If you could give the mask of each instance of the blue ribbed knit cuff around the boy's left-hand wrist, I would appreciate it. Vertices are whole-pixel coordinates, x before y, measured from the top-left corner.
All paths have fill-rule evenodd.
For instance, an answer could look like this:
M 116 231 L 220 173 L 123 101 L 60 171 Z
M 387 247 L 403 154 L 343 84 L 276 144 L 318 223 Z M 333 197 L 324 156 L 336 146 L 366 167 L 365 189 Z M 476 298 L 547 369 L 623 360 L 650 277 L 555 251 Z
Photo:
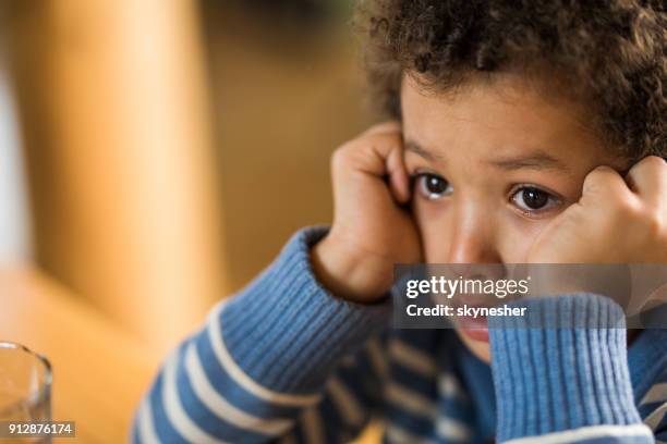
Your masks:
M 278 259 L 222 310 L 223 341 L 253 380 L 277 392 L 319 391 L 341 358 L 391 319 L 390 298 L 360 305 L 317 282 L 310 248 L 326 229 L 296 233 Z

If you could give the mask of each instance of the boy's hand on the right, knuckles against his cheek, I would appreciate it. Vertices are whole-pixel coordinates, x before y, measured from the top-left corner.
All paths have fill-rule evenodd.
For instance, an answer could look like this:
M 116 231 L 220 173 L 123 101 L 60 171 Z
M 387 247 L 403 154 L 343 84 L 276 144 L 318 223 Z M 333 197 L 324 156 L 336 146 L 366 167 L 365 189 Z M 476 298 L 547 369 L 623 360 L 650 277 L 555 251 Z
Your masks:
M 626 181 L 591 171 L 579 202 L 539 233 L 530 263 L 667 263 L 667 162 L 651 156 Z

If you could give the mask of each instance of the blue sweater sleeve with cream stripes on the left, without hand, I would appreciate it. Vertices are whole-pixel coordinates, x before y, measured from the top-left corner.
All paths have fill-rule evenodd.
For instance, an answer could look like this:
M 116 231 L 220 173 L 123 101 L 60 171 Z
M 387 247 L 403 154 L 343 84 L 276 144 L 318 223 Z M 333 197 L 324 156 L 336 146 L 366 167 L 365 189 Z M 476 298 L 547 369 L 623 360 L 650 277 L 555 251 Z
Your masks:
M 340 442 L 365 425 L 381 377 L 365 354 L 378 349 L 390 301 L 329 294 L 310 262 L 323 234 L 298 233 L 171 354 L 138 408 L 134 442 Z

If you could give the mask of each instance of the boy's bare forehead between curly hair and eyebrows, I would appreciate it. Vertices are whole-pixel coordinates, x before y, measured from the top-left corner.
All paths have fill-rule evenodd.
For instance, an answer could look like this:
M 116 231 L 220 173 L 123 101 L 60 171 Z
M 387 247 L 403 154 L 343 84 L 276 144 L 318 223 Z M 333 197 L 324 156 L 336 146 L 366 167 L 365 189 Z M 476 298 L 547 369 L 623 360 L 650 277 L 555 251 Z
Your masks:
M 594 162 L 594 158 L 608 157 L 586 124 L 584 107 L 546 97 L 517 77 L 478 82 L 438 95 L 405 76 L 401 107 L 405 138 L 442 158 L 541 152 Z

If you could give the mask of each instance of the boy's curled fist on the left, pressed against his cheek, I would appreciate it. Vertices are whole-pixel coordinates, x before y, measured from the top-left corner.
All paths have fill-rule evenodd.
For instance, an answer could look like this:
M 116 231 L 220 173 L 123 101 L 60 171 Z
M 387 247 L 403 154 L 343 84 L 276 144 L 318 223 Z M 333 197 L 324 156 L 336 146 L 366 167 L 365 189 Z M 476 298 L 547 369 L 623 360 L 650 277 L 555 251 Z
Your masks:
M 332 293 L 369 303 L 389 291 L 395 263 L 419 262 L 422 249 L 408 203 L 400 125 L 376 125 L 331 158 L 333 223 L 313 248 L 313 268 Z

